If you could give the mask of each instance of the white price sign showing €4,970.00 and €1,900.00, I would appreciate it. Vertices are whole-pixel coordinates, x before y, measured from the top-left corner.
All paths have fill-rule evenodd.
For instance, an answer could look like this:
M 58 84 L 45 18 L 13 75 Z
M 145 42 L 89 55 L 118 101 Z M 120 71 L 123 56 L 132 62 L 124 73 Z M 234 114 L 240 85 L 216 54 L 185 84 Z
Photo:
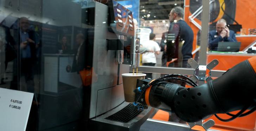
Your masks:
M 0 131 L 25 131 L 33 93 L 0 88 Z

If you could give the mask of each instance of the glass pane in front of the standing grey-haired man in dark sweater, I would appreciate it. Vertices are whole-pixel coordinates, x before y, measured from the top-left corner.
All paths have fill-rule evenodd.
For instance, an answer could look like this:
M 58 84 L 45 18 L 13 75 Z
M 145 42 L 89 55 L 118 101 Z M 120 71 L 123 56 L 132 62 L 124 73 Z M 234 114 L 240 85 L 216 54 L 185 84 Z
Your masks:
M 190 68 L 187 64 L 189 58 L 198 61 L 201 13 L 197 10 L 200 3 L 184 0 L 140 1 L 136 36 L 141 43 L 141 65 Z M 153 46 L 156 43 L 160 48 Z

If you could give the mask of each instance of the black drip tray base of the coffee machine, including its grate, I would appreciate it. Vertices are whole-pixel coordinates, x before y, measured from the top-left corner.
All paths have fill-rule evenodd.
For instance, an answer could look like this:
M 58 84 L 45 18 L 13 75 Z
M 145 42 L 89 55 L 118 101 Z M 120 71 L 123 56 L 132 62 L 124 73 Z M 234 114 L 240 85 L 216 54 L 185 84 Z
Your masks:
M 142 105 L 139 105 L 142 106 Z M 148 109 L 133 109 L 132 103 L 123 102 L 113 110 L 89 120 L 90 131 L 139 131 L 147 120 L 152 107 Z

